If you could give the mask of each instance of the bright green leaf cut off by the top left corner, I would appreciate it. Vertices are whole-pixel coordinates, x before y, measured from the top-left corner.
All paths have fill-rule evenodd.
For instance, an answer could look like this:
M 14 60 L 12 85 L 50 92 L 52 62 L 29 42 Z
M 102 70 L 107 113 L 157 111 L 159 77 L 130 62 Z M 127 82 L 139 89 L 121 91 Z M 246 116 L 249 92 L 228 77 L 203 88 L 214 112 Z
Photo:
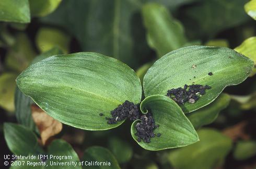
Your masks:
M 6 22 L 30 22 L 28 0 L 0 1 L 0 20 Z

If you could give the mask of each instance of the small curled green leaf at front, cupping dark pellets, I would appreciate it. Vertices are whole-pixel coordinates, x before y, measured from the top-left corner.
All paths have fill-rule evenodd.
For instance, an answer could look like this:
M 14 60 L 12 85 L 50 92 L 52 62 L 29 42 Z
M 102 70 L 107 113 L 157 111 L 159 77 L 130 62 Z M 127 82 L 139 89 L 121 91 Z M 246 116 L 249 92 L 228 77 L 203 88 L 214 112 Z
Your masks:
M 132 137 L 144 149 L 164 150 L 188 146 L 199 141 L 194 127 L 183 114 L 180 106 L 167 96 L 148 96 L 142 101 L 141 110 L 144 113 L 149 111 L 153 114 L 156 125 L 159 125 L 159 128 L 156 128 L 154 132 L 161 134 L 160 137 L 152 138 L 150 143 L 137 142 L 135 125 L 139 120 L 133 122 L 131 127 Z

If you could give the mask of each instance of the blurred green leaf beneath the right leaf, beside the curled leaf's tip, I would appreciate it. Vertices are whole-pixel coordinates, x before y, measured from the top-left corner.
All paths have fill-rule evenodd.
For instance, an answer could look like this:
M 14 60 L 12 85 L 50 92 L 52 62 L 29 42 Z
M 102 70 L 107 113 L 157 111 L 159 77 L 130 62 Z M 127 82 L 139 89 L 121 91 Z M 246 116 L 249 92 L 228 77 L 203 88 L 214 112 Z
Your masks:
M 226 108 L 230 102 L 228 94 L 220 94 L 216 100 L 197 111 L 187 114 L 195 129 L 211 124 L 218 117 L 219 112 Z

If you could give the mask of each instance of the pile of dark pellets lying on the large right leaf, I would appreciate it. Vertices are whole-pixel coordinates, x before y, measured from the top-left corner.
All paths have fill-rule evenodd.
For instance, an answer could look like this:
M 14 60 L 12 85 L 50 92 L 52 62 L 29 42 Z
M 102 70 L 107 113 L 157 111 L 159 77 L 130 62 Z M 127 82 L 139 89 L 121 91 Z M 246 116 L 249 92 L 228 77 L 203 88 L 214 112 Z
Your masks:
M 206 89 L 211 89 L 211 87 L 208 85 L 184 85 L 184 88 L 168 90 L 166 95 L 178 104 L 184 104 L 185 102 L 193 104 L 199 100 L 199 94 L 205 94 Z

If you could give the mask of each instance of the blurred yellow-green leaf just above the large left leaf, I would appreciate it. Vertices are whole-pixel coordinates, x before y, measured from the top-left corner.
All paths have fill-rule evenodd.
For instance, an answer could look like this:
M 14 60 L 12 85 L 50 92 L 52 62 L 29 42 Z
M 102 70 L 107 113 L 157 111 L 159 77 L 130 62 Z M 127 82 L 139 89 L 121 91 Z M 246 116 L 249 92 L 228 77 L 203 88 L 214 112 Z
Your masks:
M 36 44 L 41 52 L 59 47 L 65 54 L 69 52 L 70 37 L 65 32 L 56 28 L 40 28 L 36 37 Z

